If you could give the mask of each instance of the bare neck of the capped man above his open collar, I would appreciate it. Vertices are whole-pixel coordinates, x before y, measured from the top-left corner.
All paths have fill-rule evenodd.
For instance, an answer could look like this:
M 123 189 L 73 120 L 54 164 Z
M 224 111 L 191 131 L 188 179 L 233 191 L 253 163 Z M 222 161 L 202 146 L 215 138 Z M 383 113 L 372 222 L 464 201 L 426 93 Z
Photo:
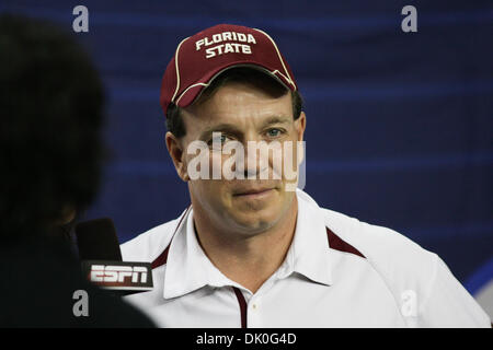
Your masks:
M 283 264 L 291 244 L 298 213 L 295 196 L 289 209 L 271 229 L 245 237 L 221 232 L 194 210 L 197 240 L 210 261 L 229 279 L 255 293 Z

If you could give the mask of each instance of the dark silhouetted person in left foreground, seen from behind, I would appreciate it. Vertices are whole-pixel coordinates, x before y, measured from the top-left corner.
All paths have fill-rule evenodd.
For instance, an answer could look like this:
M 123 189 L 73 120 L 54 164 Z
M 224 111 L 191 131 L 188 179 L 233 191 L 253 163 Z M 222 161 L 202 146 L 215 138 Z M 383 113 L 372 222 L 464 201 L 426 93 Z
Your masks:
M 99 189 L 103 107 L 73 37 L 0 15 L 0 327 L 153 326 L 85 280 L 66 234 Z

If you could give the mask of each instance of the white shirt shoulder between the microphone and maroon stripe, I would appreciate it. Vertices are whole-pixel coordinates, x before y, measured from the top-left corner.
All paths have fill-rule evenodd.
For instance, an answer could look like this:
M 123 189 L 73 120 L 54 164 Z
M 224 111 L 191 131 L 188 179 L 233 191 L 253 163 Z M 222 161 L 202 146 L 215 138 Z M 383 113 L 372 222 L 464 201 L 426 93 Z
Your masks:
M 150 262 L 170 244 L 180 218 L 152 228 L 121 245 L 122 257 L 127 261 Z

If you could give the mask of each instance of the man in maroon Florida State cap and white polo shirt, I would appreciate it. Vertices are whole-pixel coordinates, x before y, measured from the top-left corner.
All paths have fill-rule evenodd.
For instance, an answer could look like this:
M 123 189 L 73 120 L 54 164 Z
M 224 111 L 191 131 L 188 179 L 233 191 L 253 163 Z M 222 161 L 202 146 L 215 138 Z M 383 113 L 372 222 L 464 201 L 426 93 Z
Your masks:
M 293 151 L 307 125 L 293 72 L 266 33 L 222 24 L 182 40 L 161 104 L 192 203 L 122 246 L 124 259 L 152 261 L 154 290 L 127 300 L 158 325 L 490 326 L 438 256 L 294 190 L 275 147 L 256 161 L 262 148 L 248 143 Z M 295 166 L 302 159 L 280 156 Z

